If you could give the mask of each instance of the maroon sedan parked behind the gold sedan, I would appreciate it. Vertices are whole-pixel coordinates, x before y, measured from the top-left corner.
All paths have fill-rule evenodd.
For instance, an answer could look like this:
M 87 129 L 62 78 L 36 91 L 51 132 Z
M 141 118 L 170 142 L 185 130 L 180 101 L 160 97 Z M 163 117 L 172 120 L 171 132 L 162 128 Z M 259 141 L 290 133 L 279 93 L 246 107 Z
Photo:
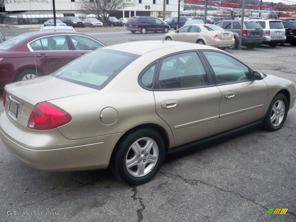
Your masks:
M 78 32 L 28 32 L 0 44 L 0 88 L 48 75 L 75 58 L 104 46 Z

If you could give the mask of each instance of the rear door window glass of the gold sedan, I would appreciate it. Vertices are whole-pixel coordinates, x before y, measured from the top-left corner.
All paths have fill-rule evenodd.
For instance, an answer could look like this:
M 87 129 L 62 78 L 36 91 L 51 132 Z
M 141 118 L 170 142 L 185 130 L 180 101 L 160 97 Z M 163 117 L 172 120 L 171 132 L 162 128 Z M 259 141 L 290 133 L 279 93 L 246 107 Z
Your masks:
M 209 85 L 196 52 L 185 52 L 161 60 L 157 83 L 160 89 L 186 89 Z

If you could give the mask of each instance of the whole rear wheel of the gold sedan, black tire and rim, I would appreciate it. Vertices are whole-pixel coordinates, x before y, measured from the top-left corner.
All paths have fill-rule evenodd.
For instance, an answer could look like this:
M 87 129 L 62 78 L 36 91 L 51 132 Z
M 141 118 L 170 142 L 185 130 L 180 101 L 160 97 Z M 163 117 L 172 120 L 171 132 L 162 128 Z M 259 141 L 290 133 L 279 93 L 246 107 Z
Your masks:
M 127 133 L 116 145 L 110 168 L 113 174 L 130 186 L 151 180 L 165 157 L 165 143 L 152 128 L 142 128 Z

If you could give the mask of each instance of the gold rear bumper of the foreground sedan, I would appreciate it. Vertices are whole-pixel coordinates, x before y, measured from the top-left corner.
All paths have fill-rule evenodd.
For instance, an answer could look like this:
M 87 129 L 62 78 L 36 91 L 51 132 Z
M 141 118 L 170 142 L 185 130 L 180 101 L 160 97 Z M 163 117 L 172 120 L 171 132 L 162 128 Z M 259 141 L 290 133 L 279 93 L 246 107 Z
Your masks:
M 58 129 L 22 131 L 0 113 L 0 137 L 7 150 L 32 168 L 47 171 L 103 169 L 123 133 L 69 140 Z M 31 138 L 31 139 L 28 139 Z

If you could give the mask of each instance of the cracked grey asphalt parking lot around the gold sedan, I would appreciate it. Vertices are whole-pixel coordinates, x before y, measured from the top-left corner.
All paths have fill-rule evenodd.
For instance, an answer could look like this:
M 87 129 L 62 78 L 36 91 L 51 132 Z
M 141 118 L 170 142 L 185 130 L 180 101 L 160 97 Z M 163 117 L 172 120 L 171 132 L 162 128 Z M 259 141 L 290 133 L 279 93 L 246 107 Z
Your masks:
M 289 44 L 226 51 L 296 82 Z M 109 170 L 37 171 L 0 143 L 0 221 L 296 221 L 295 117 L 293 107 L 279 131 L 249 128 L 169 155 L 152 181 L 136 187 Z M 270 208 L 288 210 L 268 215 Z

